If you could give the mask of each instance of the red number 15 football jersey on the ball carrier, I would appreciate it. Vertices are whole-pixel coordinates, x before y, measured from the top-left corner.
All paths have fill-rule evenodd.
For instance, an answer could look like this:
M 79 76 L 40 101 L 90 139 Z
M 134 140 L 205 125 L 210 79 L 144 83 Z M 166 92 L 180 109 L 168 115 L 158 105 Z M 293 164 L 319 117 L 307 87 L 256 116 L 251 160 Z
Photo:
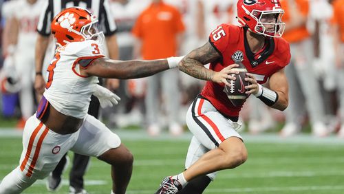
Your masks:
M 290 46 L 282 38 L 266 39 L 264 48 L 253 54 L 246 39 L 246 30 L 237 25 L 222 24 L 211 32 L 209 42 L 222 58 L 210 64 L 215 72 L 233 63 L 244 65 L 247 71 L 255 74 L 257 82 L 266 83 L 268 78 L 288 65 L 290 62 Z M 226 116 L 239 116 L 241 106 L 235 107 L 224 92 L 224 84 L 208 81 L 201 95 Z

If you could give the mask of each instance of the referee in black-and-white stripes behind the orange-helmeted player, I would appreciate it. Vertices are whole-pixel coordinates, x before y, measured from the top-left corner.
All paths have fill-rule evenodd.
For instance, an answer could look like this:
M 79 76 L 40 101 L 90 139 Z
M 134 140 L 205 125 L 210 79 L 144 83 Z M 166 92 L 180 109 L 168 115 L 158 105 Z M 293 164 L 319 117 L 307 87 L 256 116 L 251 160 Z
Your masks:
M 43 12 L 41 13 L 39 23 L 37 25 L 38 36 L 35 47 L 36 76 L 34 80 L 34 88 L 36 89 L 36 94 L 39 100 L 45 90 L 45 80 L 42 75 L 42 70 L 44 70 L 43 72 L 45 73 L 46 69 L 43 69 L 43 61 L 45 58 L 45 52 L 47 51 L 47 47 L 50 43 L 50 24 L 54 16 L 61 12 L 61 10 L 75 6 L 86 8 L 92 12 L 92 14 L 96 15 L 99 20 L 100 30 L 102 30 L 105 35 L 109 58 L 118 58 L 118 46 L 115 35 L 116 24 L 114 22 L 114 17 L 111 14 L 108 0 L 47 0 L 45 7 L 42 9 Z M 54 48 L 52 53 L 54 53 Z M 52 59 L 50 57 L 52 56 L 48 57 L 48 60 L 50 61 Z M 116 82 L 116 80 L 111 81 Z M 98 118 L 98 111 L 99 101 L 95 96 L 92 96 L 88 114 Z M 73 166 L 69 173 L 69 193 L 87 193 L 84 189 L 83 175 L 85 175 L 88 162 L 89 156 L 74 153 Z M 47 189 L 49 191 L 57 191 L 61 186 L 61 175 L 66 164 L 67 157 L 65 155 L 47 180 Z

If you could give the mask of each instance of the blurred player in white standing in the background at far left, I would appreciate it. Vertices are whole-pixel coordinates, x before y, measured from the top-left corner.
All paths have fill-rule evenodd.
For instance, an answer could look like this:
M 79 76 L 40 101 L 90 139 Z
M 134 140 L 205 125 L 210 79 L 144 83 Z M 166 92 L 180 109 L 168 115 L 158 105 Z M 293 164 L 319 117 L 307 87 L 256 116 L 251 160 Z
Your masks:
M 23 124 L 34 113 L 34 95 L 32 92 L 34 83 L 34 45 L 36 41 L 36 25 L 41 14 L 41 0 L 15 1 L 15 9 L 12 13 L 9 25 L 14 40 L 14 65 L 19 75 L 21 89 L 19 91 L 19 103 Z M 18 125 L 18 127 L 23 127 Z

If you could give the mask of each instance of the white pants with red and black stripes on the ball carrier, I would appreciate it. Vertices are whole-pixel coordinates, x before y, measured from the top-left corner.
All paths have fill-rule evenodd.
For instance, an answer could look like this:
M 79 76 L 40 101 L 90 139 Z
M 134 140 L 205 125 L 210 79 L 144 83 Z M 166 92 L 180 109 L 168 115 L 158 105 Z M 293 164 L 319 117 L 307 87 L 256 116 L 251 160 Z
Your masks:
M 186 155 L 185 169 L 188 169 L 204 153 L 217 149 L 224 140 L 230 137 L 242 140 L 239 133 L 233 129 L 230 120 L 219 113 L 208 100 L 200 98 L 200 95 L 186 113 L 186 125 L 193 133 L 193 138 Z M 207 176 L 214 180 L 215 174 L 210 173 Z

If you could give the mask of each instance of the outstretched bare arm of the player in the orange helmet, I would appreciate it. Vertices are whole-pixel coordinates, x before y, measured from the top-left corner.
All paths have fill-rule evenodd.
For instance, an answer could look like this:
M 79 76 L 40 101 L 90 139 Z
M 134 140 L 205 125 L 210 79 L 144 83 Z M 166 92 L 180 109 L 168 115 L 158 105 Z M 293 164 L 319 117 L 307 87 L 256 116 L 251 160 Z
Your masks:
M 97 58 L 86 69 L 81 69 L 85 76 L 98 76 L 103 78 L 142 78 L 162 72 L 171 67 L 177 67 L 178 61 L 158 59 L 153 61 L 116 61 L 109 58 Z

